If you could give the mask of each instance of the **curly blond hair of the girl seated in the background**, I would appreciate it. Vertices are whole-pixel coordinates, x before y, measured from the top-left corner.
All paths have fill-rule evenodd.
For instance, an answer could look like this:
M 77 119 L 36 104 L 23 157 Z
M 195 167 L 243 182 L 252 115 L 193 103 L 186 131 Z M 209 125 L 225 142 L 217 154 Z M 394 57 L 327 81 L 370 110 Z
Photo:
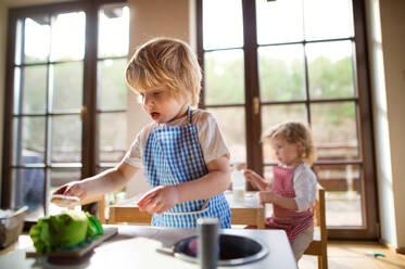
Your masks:
M 315 146 L 309 128 L 303 123 L 289 121 L 279 124 L 264 133 L 262 140 L 284 139 L 289 143 L 299 143 L 303 145 L 301 156 L 309 166 L 316 159 Z

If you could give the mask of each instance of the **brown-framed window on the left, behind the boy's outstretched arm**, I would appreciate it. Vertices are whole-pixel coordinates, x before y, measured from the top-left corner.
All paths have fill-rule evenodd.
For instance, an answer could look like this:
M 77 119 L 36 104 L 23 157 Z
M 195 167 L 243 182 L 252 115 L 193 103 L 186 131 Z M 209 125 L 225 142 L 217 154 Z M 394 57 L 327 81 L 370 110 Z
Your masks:
M 11 10 L 10 22 L 2 205 L 28 205 L 29 220 L 60 210 L 47 203 L 58 187 L 124 155 L 129 11 L 80 1 Z

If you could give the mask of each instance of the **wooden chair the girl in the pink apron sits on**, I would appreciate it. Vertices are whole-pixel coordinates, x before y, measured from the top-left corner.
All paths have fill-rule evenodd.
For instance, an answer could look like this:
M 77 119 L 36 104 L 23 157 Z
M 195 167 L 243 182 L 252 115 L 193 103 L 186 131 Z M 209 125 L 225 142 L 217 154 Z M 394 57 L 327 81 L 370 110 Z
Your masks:
M 318 256 L 318 268 L 321 269 L 328 269 L 328 230 L 325 210 L 325 190 L 318 183 L 314 209 L 314 241 L 311 242 L 304 254 Z

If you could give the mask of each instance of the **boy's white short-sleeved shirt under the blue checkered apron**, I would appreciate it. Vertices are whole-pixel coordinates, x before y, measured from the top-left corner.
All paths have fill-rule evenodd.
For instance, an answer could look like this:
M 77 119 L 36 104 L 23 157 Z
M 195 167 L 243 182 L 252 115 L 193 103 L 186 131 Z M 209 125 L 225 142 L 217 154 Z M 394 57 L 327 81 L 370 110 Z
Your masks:
M 173 126 L 183 126 L 189 123 L 188 115 L 165 124 L 150 123 L 137 134 L 130 150 L 124 157 L 124 162 L 135 167 L 142 168 L 143 152 L 147 145 L 149 134 L 155 128 L 165 128 Z M 213 115 L 206 111 L 192 110 L 192 123 L 195 125 L 200 146 L 204 156 L 205 164 L 227 155 L 230 157 L 224 136 L 220 132 L 218 124 Z

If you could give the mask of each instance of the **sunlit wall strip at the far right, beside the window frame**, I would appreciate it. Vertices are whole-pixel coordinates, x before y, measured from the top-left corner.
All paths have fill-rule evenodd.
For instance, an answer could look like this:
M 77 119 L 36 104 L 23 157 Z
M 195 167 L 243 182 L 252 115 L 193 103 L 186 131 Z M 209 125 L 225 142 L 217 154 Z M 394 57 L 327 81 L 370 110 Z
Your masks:
M 405 1 L 367 0 L 381 239 L 405 247 Z

